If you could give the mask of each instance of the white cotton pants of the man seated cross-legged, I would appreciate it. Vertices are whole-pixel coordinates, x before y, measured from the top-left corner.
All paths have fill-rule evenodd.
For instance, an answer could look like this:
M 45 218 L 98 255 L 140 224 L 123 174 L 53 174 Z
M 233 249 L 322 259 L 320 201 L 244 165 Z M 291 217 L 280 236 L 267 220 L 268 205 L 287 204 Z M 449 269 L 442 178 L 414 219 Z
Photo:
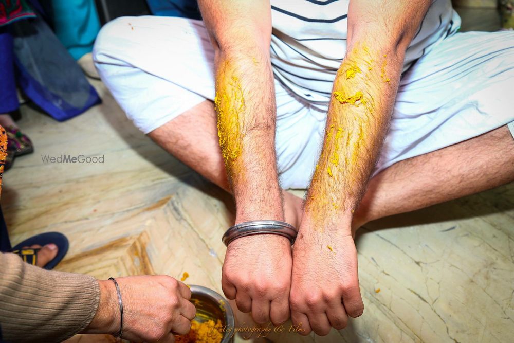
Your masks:
M 103 82 L 145 134 L 214 99 L 214 51 L 201 21 L 121 17 L 102 28 L 93 55 Z M 328 104 L 308 103 L 277 80 L 275 91 L 280 183 L 285 189 L 306 188 L 321 150 Z M 513 98 L 514 32 L 445 39 L 403 74 L 374 174 L 512 125 Z

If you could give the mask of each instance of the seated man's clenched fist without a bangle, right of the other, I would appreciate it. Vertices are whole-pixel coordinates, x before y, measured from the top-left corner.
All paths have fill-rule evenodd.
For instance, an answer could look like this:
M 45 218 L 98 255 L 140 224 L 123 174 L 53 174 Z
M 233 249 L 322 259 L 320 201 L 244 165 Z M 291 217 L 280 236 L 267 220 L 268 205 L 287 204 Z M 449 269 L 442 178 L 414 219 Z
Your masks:
M 350 230 L 329 231 L 304 222 L 293 247 L 291 320 L 304 329 L 302 335 L 313 330 L 324 336 L 364 311 L 357 250 Z

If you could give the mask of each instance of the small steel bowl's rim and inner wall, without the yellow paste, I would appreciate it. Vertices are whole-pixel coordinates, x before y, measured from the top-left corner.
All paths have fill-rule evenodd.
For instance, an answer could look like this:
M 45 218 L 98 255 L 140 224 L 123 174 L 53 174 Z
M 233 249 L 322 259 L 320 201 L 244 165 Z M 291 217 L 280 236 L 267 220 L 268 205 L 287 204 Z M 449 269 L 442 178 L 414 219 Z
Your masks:
M 205 322 L 209 319 L 216 322 L 221 320 L 226 330 L 221 343 L 232 342 L 232 329 L 234 328 L 234 313 L 228 301 L 210 288 L 198 285 L 189 285 L 191 288 L 191 302 L 196 307 L 195 320 Z

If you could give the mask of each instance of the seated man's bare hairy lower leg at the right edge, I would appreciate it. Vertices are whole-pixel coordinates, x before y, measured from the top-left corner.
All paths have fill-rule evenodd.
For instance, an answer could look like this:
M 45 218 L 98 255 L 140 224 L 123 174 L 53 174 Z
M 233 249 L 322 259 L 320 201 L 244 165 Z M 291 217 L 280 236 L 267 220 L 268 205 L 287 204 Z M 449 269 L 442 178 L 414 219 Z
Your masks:
M 505 125 L 453 146 L 400 161 L 383 170 L 370 180 L 355 212 L 353 232 L 379 218 L 514 181 L 513 134 Z

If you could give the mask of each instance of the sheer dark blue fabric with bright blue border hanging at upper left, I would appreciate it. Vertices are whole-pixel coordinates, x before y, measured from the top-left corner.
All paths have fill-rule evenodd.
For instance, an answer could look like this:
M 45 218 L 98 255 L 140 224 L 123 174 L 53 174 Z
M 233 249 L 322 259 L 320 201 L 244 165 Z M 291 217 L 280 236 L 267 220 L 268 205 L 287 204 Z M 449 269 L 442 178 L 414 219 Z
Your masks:
M 39 15 L 12 23 L 9 29 L 18 86 L 44 112 L 63 121 L 101 102 L 82 69 Z M 3 53 L 0 50 L 0 58 Z

